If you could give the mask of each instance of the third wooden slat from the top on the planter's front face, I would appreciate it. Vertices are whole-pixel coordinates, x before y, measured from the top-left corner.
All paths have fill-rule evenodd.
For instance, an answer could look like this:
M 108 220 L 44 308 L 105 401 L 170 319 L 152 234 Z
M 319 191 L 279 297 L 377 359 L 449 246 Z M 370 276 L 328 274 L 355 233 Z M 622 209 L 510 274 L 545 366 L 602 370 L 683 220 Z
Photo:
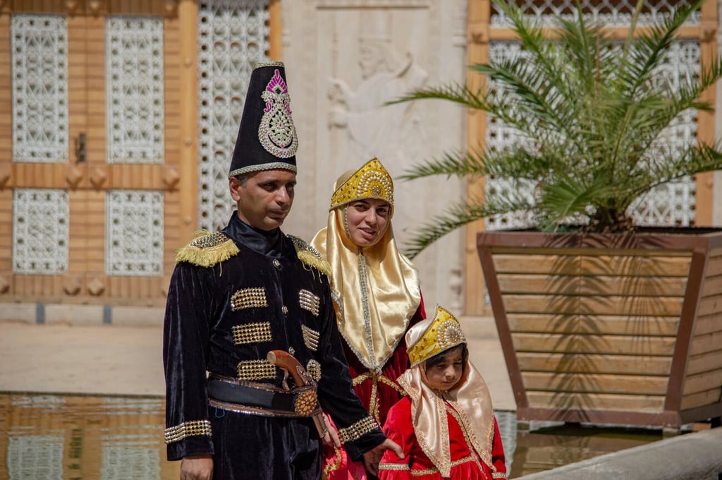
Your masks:
M 506 311 L 516 313 L 632 315 L 641 317 L 679 317 L 682 299 L 679 297 L 622 297 L 622 296 L 504 296 Z

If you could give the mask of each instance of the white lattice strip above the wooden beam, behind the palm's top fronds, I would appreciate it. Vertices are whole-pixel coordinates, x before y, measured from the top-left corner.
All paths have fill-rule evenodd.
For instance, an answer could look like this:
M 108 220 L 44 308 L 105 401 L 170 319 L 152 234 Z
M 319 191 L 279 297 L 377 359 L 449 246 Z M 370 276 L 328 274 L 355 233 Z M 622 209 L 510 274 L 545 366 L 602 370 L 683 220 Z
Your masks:
M 534 17 L 541 25 L 556 25 L 554 17 L 559 16 L 566 20 L 573 20 L 576 16 L 575 0 L 521 0 L 517 4 Z M 640 12 L 638 25 L 651 25 L 661 20 L 661 16 L 668 14 L 674 7 L 692 4 L 692 1 L 682 0 L 651 0 L 645 1 Z M 624 27 L 630 25 L 632 14 L 637 5 L 636 0 L 580 0 L 582 12 L 588 20 L 599 22 L 607 27 Z M 699 25 L 700 12 L 690 17 L 689 25 Z M 505 14 L 498 12 L 492 4 L 492 27 L 508 27 L 511 22 Z

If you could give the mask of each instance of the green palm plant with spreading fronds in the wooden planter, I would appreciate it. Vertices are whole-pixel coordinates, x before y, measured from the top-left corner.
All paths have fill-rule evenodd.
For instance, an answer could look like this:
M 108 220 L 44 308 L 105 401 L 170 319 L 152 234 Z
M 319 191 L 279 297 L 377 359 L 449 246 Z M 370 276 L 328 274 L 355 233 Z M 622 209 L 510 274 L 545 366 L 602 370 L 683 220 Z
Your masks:
M 590 24 L 579 2 L 573 20 L 557 18 L 549 39 L 513 1 L 495 0 L 513 24 L 523 55 L 475 64 L 501 90 L 452 84 L 409 93 L 397 102 L 441 99 L 489 113 L 516 129 L 521 141 L 500 150 L 444 153 L 407 170 L 426 176 L 527 181 L 529 199 L 490 190 L 468 198 L 425 223 L 409 244 L 416 254 L 475 220 L 526 213 L 542 231 L 573 222 L 586 231 L 633 231 L 630 205 L 655 187 L 722 168 L 721 144 L 696 142 L 680 150 L 664 144 L 666 129 L 689 108 L 711 110 L 702 93 L 722 77 L 722 60 L 673 85 L 658 74 L 679 28 L 704 0 L 680 7 L 641 35 L 632 35 L 643 7 L 638 1 L 625 41 Z

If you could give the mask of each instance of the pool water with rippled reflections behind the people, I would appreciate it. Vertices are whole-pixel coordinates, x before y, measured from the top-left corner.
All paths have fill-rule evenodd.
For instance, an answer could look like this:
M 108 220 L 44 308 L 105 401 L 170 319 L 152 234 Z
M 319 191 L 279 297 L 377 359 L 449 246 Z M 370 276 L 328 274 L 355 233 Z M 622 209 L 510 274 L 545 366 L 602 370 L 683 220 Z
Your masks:
M 542 422 L 517 432 L 509 411 L 497 420 L 510 479 L 661 440 L 658 430 Z M 177 480 L 164 427 L 162 398 L 0 394 L 0 480 Z

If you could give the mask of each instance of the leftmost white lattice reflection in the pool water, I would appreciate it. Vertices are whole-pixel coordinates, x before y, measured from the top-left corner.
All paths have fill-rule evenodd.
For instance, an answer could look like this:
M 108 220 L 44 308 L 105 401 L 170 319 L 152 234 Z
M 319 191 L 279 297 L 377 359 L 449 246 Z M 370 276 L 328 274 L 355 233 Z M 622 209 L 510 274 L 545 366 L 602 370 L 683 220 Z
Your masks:
M 8 433 L 6 459 L 9 479 L 63 479 L 63 431 L 54 435 Z

